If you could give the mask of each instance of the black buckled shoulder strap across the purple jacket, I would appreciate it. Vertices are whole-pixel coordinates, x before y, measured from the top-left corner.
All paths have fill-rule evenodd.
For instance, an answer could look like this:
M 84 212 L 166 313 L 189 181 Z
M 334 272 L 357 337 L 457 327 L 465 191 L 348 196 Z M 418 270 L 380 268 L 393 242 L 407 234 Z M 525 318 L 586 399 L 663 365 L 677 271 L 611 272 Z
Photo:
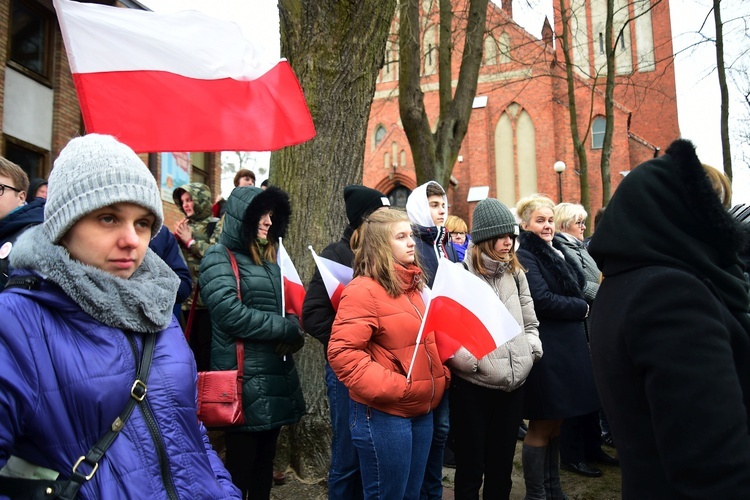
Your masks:
M 130 347 L 133 349 L 136 359 L 138 359 L 138 349 L 135 340 L 133 339 L 133 335 L 127 332 L 126 335 L 130 342 Z M 130 398 L 125 405 L 125 409 L 115 421 L 112 422 L 109 431 L 107 431 L 107 433 L 91 447 L 86 455 L 80 457 L 75 465 L 73 465 L 73 474 L 70 476 L 70 479 L 55 483 L 53 488 L 59 487 L 59 492 L 54 491 L 53 494 L 56 493 L 58 496 L 53 498 L 74 500 L 83 483 L 94 477 L 94 474 L 96 474 L 96 471 L 99 468 L 99 460 L 102 459 L 114 440 L 120 435 L 120 431 L 125 427 L 125 422 L 128 421 L 128 418 L 130 418 L 130 415 L 133 413 L 135 405 L 141 403 L 146 398 L 146 392 L 148 391 L 146 382 L 148 381 L 148 376 L 151 372 L 151 362 L 154 359 L 155 345 L 156 334 L 145 335 L 143 342 L 143 356 L 141 357 L 140 364 L 136 368 L 135 382 L 133 382 L 133 385 L 130 388 Z M 88 474 L 78 470 L 82 464 L 87 466 Z

